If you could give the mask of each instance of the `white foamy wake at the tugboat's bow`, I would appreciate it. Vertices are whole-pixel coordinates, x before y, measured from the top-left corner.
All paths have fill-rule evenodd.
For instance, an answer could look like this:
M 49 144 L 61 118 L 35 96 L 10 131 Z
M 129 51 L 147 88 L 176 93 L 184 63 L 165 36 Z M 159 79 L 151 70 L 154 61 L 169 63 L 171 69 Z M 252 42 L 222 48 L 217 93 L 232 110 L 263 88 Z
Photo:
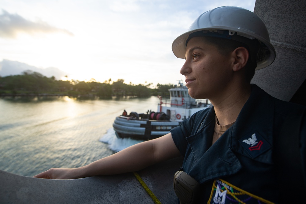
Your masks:
M 131 138 L 118 138 L 113 128 L 108 129 L 106 134 L 103 135 L 99 139 L 99 141 L 107 143 L 108 147 L 115 152 L 119 152 L 134 144 L 144 142 L 144 140 L 136 140 Z

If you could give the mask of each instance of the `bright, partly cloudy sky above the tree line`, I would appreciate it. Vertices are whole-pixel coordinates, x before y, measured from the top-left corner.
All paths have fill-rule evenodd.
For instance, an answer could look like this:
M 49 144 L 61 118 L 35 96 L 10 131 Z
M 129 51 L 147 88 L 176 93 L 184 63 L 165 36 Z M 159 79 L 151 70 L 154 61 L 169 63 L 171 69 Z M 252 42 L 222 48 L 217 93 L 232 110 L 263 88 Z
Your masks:
M 172 42 L 219 6 L 254 11 L 255 0 L 1 0 L 0 76 L 176 84 L 184 59 Z

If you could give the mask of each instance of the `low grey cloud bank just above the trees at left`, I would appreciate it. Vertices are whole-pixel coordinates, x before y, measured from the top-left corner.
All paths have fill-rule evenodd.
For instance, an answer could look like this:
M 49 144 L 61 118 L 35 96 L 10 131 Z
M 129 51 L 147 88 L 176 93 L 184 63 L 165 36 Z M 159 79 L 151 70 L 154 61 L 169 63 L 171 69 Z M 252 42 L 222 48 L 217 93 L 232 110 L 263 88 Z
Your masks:
M 26 70 L 31 70 L 33 72 L 39 72 L 43 76 L 51 77 L 54 76 L 56 80 L 61 80 L 62 77 L 66 75 L 69 76 L 69 73 L 64 72 L 56 67 L 48 67 L 46 69 L 37 68 L 25 63 L 18 61 L 2 60 L 0 61 L 0 76 L 9 76 L 9 75 L 20 75 Z

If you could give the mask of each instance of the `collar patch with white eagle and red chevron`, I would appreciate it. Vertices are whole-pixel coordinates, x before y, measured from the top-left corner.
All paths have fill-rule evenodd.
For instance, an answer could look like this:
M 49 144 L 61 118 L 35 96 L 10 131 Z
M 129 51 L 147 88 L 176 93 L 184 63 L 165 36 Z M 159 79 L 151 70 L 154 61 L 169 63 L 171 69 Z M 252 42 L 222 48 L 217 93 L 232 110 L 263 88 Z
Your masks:
M 257 132 L 245 136 L 239 142 L 252 158 L 256 158 L 271 149 L 271 145 Z

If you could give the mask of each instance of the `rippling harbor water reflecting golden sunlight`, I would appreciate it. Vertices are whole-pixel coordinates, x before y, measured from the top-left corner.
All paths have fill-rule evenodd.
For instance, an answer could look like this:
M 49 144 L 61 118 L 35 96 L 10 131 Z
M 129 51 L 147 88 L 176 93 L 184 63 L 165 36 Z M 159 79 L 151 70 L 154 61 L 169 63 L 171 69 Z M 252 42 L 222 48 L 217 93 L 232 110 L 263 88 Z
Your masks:
M 34 176 L 52 167 L 74 168 L 141 142 L 118 139 L 112 124 L 125 109 L 156 111 L 157 97 L 76 100 L 0 98 L 0 170 Z

